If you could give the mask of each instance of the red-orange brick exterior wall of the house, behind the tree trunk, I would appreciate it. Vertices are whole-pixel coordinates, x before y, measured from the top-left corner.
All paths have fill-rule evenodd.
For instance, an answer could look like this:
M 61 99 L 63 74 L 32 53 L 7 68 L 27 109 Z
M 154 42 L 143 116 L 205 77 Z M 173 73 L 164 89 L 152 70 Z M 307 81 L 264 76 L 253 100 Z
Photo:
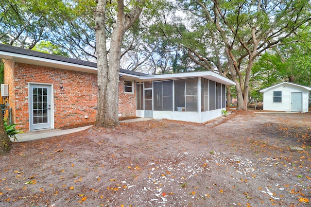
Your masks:
M 29 131 L 28 83 L 52 85 L 54 128 L 92 123 L 96 120 L 97 74 L 8 60 L 5 60 L 5 65 L 5 83 L 10 85 L 9 103 L 13 111 L 13 121 L 18 124 L 18 129 Z M 124 94 L 123 85 L 123 80 L 120 80 L 119 113 L 122 113 L 121 117 L 135 116 L 135 93 Z M 64 90 L 60 89 L 61 86 Z M 85 116 L 88 116 L 88 119 L 85 119 Z

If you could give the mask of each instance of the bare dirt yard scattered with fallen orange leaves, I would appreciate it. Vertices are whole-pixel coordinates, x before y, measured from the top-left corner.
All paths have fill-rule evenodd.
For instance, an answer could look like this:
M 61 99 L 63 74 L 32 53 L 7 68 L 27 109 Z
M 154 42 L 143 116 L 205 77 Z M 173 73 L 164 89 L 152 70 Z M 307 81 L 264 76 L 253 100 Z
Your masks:
M 310 136 L 311 113 L 233 111 L 14 143 L 0 206 L 310 206 Z

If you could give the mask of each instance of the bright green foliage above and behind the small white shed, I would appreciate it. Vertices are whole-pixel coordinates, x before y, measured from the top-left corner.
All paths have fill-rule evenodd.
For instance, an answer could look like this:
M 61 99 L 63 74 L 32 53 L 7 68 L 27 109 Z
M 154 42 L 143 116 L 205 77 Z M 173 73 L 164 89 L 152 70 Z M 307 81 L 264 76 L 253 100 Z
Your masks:
M 311 86 L 311 27 L 301 27 L 254 64 L 252 81 L 261 88 L 283 81 Z

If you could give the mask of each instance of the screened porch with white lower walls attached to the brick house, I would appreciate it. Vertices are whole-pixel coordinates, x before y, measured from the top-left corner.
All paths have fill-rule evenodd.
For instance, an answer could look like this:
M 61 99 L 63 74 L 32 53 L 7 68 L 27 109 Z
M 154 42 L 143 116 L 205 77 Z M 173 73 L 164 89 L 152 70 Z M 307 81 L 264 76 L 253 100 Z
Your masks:
M 225 86 L 234 84 L 222 78 L 219 82 L 215 77 L 213 80 L 176 77 L 138 82 L 137 116 L 197 123 L 217 118 L 225 110 Z

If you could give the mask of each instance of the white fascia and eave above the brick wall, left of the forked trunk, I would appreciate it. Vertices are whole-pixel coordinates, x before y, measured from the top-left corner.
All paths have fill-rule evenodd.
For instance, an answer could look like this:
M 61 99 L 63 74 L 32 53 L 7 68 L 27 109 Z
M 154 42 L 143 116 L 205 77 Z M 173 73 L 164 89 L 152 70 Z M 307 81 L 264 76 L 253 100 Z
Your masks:
M 14 60 L 17 63 L 25 63 L 37 66 L 45 66 L 57 69 L 68 69 L 80 72 L 97 73 L 97 68 L 84 66 L 79 64 L 73 64 L 63 61 L 51 60 L 42 57 L 35 57 L 24 54 L 17 54 L 12 52 L 2 52 L 0 51 L 0 59 Z

